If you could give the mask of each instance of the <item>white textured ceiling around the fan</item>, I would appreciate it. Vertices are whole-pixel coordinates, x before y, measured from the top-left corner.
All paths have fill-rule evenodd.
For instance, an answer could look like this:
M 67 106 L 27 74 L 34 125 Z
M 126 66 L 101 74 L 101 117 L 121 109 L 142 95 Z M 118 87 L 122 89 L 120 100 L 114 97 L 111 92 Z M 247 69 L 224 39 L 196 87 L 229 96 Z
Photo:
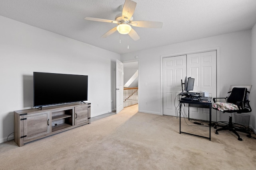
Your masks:
M 256 0 L 134 0 L 134 21 L 163 22 L 161 29 L 133 27 L 138 41 L 117 31 L 101 38 L 116 24 L 84 20 L 114 20 L 124 2 L 0 0 L 0 15 L 119 54 L 251 29 L 256 23 Z

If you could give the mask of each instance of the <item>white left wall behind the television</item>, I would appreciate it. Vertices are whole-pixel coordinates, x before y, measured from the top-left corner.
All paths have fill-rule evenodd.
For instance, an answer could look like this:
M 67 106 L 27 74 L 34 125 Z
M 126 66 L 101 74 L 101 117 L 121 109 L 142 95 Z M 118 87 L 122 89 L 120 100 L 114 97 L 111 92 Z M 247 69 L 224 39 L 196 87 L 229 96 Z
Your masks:
M 88 75 L 91 116 L 116 108 L 119 54 L 2 16 L 0 25 L 0 143 L 14 131 L 13 111 L 33 106 L 34 71 Z

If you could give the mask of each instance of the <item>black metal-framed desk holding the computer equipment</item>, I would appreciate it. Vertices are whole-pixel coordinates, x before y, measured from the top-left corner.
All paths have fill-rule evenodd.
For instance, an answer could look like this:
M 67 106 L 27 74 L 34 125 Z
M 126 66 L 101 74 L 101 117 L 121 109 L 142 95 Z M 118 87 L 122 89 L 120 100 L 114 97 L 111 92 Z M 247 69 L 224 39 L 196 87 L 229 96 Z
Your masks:
M 186 133 L 181 131 L 181 118 L 180 118 L 180 133 L 185 133 L 188 135 L 193 135 L 197 137 L 202 137 L 211 140 L 211 124 L 212 124 L 212 102 L 199 102 L 199 101 L 187 101 L 187 100 L 179 100 L 180 102 L 180 115 L 181 115 L 181 107 L 182 104 L 188 104 L 188 115 L 189 115 L 189 107 L 202 107 L 202 108 L 209 108 L 210 111 L 210 123 L 209 123 L 209 137 L 204 137 L 200 135 L 195 135 L 192 133 Z M 189 117 L 188 117 L 189 118 Z

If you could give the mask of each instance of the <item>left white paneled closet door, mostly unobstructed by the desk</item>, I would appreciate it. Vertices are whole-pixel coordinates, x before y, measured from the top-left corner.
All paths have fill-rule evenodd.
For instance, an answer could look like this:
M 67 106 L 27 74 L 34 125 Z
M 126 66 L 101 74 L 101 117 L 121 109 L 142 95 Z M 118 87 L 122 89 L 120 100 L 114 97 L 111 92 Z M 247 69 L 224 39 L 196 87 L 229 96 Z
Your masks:
M 163 59 L 163 114 L 175 116 L 174 99 L 182 91 L 181 80 L 186 76 L 186 55 Z

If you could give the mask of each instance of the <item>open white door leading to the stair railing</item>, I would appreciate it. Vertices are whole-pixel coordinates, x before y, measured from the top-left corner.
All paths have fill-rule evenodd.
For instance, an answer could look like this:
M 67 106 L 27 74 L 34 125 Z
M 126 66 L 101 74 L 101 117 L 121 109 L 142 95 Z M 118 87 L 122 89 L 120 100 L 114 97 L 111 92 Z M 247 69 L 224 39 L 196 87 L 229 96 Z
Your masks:
M 124 109 L 124 64 L 116 60 L 116 113 Z

